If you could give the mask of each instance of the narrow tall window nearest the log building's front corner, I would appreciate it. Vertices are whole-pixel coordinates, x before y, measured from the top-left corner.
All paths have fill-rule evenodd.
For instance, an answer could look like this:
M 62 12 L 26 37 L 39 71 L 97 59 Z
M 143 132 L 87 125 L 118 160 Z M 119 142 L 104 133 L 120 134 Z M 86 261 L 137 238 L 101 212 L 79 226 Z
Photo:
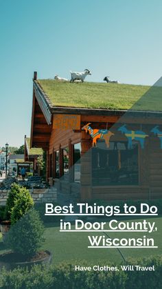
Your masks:
M 81 156 L 81 143 L 76 143 L 73 146 L 73 181 L 80 183 L 80 156 Z

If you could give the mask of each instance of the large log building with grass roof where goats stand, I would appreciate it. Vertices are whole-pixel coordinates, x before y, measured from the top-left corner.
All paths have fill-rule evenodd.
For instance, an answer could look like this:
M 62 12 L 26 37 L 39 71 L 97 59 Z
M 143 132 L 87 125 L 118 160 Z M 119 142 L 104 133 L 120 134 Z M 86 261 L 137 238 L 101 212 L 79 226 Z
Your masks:
M 157 86 L 37 80 L 34 72 L 31 147 L 46 150 L 47 180 L 58 193 L 78 192 L 81 200 L 161 198 L 161 140 L 151 132 L 162 122 L 159 95 Z M 87 123 L 113 132 L 109 148 L 103 138 L 92 148 L 82 130 Z M 132 133 L 130 150 L 123 124 Z M 134 132 L 147 135 L 144 148 Z

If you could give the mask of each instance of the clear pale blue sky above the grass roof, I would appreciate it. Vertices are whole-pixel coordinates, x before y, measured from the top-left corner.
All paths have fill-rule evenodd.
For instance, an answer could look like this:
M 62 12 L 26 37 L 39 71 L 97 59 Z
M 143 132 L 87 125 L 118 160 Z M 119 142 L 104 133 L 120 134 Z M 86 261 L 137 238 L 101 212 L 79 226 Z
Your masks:
M 30 136 L 32 77 L 108 75 L 152 86 L 162 69 L 161 0 L 0 0 L 0 147 Z

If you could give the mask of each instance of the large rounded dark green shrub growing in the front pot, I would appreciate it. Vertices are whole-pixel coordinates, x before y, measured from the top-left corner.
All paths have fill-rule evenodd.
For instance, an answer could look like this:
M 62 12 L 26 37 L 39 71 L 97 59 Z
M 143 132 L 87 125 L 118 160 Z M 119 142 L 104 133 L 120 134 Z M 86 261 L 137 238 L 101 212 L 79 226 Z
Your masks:
M 43 232 L 44 226 L 38 212 L 32 208 L 10 228 L 6 243 L 14 252 L 30 257 L 42 245 Z

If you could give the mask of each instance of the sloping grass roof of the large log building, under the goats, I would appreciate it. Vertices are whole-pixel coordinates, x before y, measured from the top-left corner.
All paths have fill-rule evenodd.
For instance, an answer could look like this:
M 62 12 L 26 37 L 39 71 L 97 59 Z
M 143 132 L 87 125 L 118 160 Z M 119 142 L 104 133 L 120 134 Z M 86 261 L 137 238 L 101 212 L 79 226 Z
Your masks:
M 161 87 L 115 83 L 37 81 L 52 106 L 162 111 Z

